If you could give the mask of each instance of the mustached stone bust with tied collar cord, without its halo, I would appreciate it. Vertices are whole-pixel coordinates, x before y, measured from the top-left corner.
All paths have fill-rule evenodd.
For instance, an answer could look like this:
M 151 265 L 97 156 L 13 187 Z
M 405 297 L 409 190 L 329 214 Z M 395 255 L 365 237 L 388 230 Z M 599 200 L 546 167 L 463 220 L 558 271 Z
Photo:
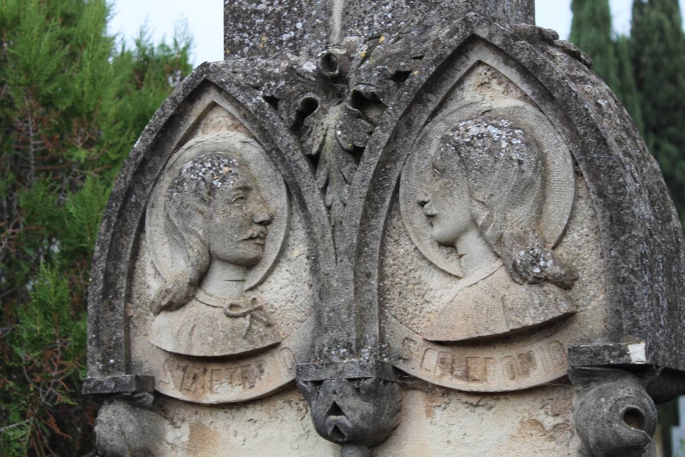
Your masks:
M 183 164 L 166 188 L 163 230 L 177 259 L 151 303 L 150 341 L 177 354 L 239 354 L 280 341 L 257 297 L 245 297 L 272 221 L 269 203 L 237 155 Z

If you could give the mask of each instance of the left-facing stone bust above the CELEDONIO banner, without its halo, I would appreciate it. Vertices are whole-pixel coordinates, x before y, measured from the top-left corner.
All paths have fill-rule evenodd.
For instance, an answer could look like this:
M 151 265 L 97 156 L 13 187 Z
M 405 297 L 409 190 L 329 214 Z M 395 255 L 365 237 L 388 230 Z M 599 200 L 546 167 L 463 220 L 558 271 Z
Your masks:
M 458 123 L 443 136 L 417 203 L 463 278 L 424 338 L 460 341 L 532 328 L 575 312 L 574 271 L 543 238 L 548 171 L 525 128 L 503 116 Z

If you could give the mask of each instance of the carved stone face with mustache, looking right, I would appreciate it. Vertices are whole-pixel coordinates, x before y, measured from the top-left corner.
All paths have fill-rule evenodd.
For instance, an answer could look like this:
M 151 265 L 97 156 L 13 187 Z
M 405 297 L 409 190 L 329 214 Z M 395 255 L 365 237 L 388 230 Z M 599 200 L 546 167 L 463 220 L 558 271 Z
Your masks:
M 239 166 L 232 186 L 216 190 L 209 223 L 212 259 L 251 267 L 262 258 L 266 227 L 273 219 L 252 174 Z

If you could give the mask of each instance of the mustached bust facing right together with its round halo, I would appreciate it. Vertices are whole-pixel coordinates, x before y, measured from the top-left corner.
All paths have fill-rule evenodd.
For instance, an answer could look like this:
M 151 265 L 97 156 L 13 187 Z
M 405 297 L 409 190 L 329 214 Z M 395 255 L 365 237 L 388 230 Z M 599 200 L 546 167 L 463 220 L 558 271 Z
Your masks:
M 279 253 L 289 213 L 283 181 L 254 143 L 235 132 L 197 138 L 155 186 L 146 235 L 164 285 L 150 341 L 166 351 L 229 356 L 281 339 L 262 298 L 246 296 Z

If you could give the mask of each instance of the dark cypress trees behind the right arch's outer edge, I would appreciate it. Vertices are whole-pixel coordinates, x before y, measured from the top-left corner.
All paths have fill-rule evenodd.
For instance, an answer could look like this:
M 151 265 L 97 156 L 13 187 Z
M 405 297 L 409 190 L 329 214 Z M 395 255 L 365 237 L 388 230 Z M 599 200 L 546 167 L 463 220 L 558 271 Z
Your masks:
M 685 34 L 677 0 L 634 0 L 630 37 L 612 38 L 608 0 L 573 0 L 571 10 L 570 40 L 632 116 L 685 224 Z

